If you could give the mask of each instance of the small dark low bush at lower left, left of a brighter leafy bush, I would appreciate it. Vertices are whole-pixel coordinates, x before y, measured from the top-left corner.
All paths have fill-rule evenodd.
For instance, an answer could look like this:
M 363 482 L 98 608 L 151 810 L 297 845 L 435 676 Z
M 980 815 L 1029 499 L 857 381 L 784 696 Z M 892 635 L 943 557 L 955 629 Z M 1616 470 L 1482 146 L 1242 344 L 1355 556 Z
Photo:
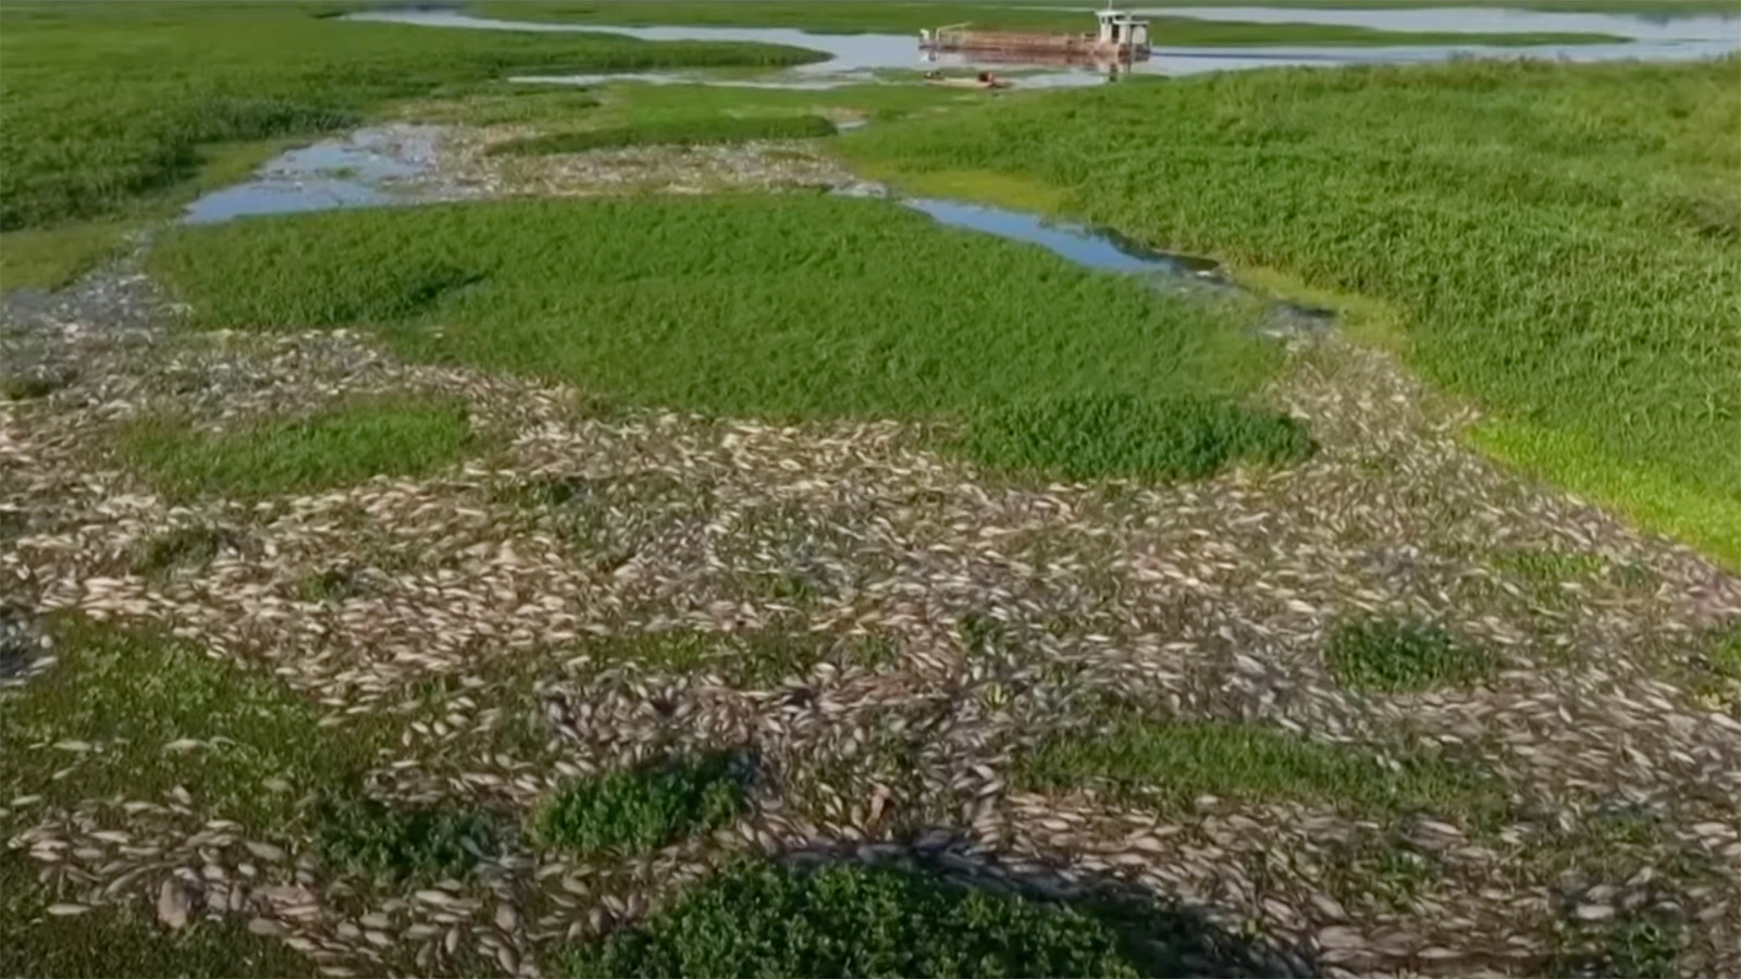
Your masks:
M 501 820 L 453 805 L 388 805 L 355 794 L 324 800 L 320 857 L 374 878 L 434 880 L 470 869 L 501 848 Z

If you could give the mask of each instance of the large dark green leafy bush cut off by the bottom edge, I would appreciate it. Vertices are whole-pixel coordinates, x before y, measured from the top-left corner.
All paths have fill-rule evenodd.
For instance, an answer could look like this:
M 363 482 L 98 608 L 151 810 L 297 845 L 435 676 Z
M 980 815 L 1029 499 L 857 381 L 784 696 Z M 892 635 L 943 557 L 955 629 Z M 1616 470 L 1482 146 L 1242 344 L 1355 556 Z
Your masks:
M 916 873 L 740 864 L 559 974 L 1137 976 L 1111 928 L 1053 904 Z

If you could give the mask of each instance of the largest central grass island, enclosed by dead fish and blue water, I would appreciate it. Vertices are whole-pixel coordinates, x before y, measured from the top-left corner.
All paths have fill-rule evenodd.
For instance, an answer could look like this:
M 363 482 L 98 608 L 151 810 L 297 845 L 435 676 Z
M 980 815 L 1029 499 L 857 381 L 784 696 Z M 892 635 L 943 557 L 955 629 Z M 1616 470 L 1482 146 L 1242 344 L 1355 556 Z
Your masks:
M 1276 357 L 1245 307 L 823 195 L 237 221 L 165 235 L 153 265 L 205 326 L 360 324 L 411 357 L 728 416 L 966 422 L 1048 399 L 1238 397 Z M 1119 444 L 1125 422 L 1107 429 Z M 1032 462 L 982 446 L 991 463 Z

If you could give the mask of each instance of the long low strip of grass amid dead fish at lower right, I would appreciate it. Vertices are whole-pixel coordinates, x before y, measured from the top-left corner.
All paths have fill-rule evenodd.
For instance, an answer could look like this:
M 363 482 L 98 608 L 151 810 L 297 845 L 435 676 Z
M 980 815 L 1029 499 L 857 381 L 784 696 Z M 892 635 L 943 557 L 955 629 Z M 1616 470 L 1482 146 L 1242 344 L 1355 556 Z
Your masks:
M 1104 730 L 1057 735 L 1017 758 L 1017 782 L 1038 791 L 1083 786 L 1177 810 L 1198 796 L 1307 801 L 1361 817 L 1407 812 L 1490 820 L 1499 786 L 1447 760 L 1405 756 L 1393 768 L 1360 747 L 1281 730 L 1119 714 Z

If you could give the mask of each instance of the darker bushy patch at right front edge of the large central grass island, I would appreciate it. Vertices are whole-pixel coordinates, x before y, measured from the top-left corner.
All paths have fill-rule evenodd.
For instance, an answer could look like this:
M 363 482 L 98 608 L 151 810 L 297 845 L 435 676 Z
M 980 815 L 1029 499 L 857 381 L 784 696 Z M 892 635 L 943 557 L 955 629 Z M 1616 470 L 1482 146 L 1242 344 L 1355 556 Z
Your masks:
M 968 453 L 989 465 L 1069 479 L 1198 479 L 1234 460 L 1311 455 L 1299 422 L 1208 397 L 1079 395 L 1017 402 L 973 422 Z

